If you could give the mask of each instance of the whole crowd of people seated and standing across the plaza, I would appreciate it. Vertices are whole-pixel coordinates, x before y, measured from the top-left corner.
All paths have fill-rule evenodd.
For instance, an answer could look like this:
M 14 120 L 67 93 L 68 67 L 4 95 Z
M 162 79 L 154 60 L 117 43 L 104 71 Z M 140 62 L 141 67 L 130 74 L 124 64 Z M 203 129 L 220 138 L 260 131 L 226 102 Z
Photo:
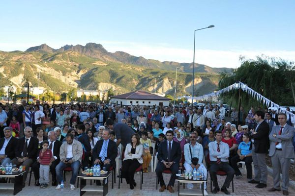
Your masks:
M 106 103 L 49 105 L 39 100 L 35 104 L 26 100 L 21 105 L 0 104 L 0 162 L 25 166 L 24 182 L 31 168 L 40 188 L 49 185 L 51 172 L 56 189 L 61 188 L 63 169 L 70 166 L 71 190 L 80 169 L 99 164 L 110 171 L 118 167 L 116 160 L 121 160 L 121 176 L 130 189 L 137 185 L 134 174 L 140 166 L 149 172 L 149 165 L 154 164 L 159 191 L 170 193 L 174 193 L 179 170 L 200 169 L 205 179 L 209 172 L 212 193 L 230 195 L 227 189 L 232 179 L 242 176 L 241 161 L 248 183 L 257 184 L 258 189 L 266 187 L 269 154 L 273 187 L 268 191 L 282 189 L 283 195 L 288 195 L 295 129 L 286 114 L 261 108 L 255 111 L 253 107 L 245 112 L 241 107 L 239 118 L 235 108 L 230 112 L 231 122 L 225 115 L 222 104 L 121 107 Z M 166 170 L 171 172 L 167 187 L 162 175 Z M 221 189 L 217 180 L 220 170 L 227 174 Z M 188 183 L 187 188 L 192 189 L 193 184 Z

